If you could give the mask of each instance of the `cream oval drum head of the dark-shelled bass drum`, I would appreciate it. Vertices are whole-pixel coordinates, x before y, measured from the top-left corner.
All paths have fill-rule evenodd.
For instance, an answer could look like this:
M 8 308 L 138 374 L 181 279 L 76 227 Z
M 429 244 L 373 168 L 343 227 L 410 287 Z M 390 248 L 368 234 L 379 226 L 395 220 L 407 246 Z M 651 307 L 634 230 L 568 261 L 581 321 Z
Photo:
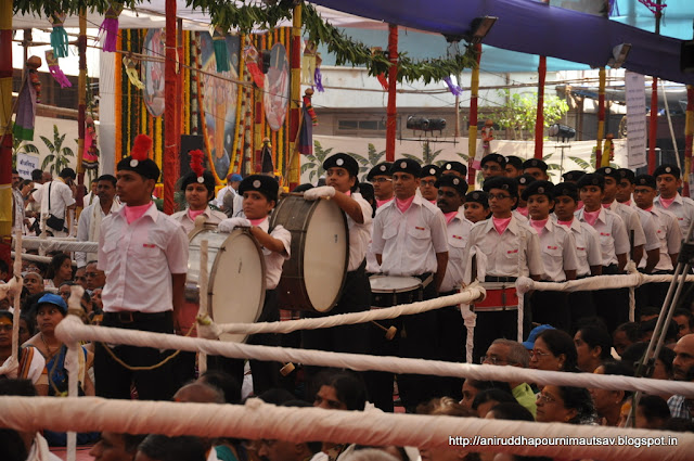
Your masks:
M 318 202 L 306 229 L 304 281 L 311 306 L 326 312 L 337 303 L 347 267 L 349 243 L 343 212 Z

